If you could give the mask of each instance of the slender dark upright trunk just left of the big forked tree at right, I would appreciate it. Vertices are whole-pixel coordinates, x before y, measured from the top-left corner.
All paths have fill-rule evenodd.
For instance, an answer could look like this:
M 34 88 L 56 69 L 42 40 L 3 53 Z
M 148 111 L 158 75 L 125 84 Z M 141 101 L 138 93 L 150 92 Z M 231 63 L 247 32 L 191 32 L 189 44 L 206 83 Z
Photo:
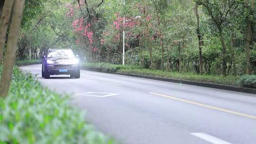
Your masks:
M 198 14 L 198 4 L 195 5 L 195 14 L 197 19 L 197 37 L 198 37 L 198 45 L 199 45 L 199 63 L 200 63 L 200 74 L 203 74 L 203 63 L 202 63 L 202 36 L 200 33 L 200 26 L 199 26 L 199 14 Z

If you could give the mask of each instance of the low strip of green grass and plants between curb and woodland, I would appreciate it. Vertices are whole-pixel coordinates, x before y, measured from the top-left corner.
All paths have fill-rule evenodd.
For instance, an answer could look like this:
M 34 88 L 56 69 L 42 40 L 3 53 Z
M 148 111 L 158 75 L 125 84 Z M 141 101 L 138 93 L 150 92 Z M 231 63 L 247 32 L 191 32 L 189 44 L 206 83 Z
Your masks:
M 195 73 L 163 72 L 161 70 L 142 69 L 134 65 L 118 65 L 110 63 L 82 63 L 81 68 L 101 72 L 122 72 L 176 80 L 198 81 L 213 84 L 223 84 L 237 87 L 256 88 L 256 76 L 217 76 L 198 75 Z

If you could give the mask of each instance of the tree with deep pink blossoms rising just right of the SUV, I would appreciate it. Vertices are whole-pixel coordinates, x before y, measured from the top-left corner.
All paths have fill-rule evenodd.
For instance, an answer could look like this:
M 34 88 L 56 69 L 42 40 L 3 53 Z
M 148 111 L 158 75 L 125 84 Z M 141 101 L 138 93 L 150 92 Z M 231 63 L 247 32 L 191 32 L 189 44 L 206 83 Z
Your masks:
M 97 6 L 100 7 L 101 4 Z M 94 7 L 88 5 L 86 0 L 67 3 L 65 8 L 66 18 L 72 21 L 70 26 L 76 38 L 75 44 L 85 48 L 88 58 L 98 61 L 101 57 L 101 45 L 104 44 L 101 29 L 99 29 L 101 16 L 94 10 Z

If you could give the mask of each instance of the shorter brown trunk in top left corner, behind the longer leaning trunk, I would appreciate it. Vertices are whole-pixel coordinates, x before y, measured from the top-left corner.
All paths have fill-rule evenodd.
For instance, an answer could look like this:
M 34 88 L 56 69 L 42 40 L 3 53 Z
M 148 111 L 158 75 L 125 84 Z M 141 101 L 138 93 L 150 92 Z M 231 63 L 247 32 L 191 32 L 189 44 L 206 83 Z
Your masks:
M 5 36 L 7 32 L 7 27 L 11 15 L 11 9 L 14 0 L 5 0 L 4 7 L 2 10 L 2 15 L 0 18 L 0 63 L 3 61 L 3 49 L 5 43 Z

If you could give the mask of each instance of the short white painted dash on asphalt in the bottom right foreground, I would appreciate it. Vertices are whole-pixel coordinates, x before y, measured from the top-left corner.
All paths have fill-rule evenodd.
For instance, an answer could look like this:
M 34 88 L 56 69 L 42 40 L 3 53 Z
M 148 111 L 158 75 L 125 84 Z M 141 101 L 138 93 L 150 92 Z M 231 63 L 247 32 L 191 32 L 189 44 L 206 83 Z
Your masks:
M 207 142 L 210 142 L 212 144 L 231 144 L 229 142 L 226 142 L 224 140 L 221 140 L 217 137 L 211 136 L 211 135 L 207 135 L 205 133 L 190 133 L 191 135 L 194 135 L 196 137 L 199 137 Z

